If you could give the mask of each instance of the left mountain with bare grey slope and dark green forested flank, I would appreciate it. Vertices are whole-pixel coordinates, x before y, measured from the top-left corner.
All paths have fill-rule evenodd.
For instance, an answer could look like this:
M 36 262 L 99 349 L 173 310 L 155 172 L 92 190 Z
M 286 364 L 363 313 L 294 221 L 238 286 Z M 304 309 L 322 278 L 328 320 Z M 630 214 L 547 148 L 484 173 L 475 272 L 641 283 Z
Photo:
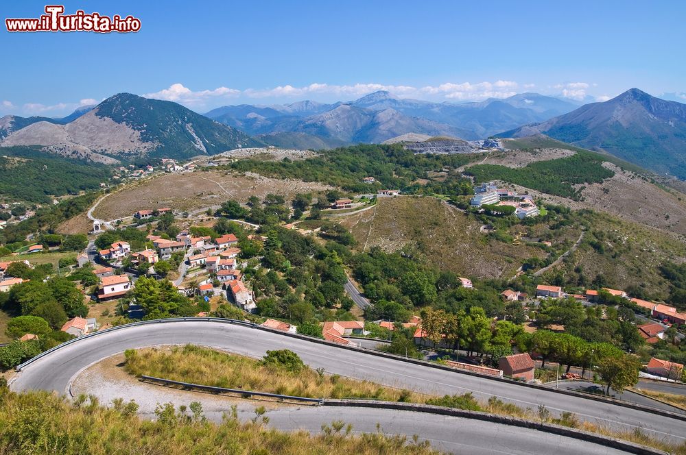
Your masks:
M 5 116 L 2 147 L 40 145 L 69 158 L 113 164 L 141 157 L 191 158 L 262 145 L 178 103 L 119 93 L 64 119 Z

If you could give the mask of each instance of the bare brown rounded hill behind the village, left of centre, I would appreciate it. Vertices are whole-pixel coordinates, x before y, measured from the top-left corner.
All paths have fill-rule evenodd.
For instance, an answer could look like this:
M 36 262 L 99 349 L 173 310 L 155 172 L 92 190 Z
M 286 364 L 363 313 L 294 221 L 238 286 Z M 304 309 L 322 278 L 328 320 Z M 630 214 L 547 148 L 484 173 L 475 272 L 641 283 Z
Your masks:
M 300 180 L 276 180 L 261 175 L 231 174 L 226 171 L 163 174 L 127 184 L 112 193 L 94 210 L 99 219 L 130 217 L 139 209 L 172 207 L 193 211 L 218 206 L 226 199 L 247 201 L 250 196 L 263 198 L 268 193 L 287 198 L 296 193 L 327 190 L 331 187 Z

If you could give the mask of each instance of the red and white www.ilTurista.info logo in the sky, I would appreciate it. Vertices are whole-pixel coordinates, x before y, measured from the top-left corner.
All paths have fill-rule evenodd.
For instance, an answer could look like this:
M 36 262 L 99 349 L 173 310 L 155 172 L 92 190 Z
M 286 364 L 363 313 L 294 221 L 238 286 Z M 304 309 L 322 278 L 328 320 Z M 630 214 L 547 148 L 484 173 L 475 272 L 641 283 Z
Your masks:
M 64 5 L 46 5 L 45 13 L 38 19 L 5 19 L 5 26 L 8 32 L 128 33 L 141 29 L 141 20 L 133 16 L 108 17 L 97 12 L 86 14 L 83 10 L 64 14 Z

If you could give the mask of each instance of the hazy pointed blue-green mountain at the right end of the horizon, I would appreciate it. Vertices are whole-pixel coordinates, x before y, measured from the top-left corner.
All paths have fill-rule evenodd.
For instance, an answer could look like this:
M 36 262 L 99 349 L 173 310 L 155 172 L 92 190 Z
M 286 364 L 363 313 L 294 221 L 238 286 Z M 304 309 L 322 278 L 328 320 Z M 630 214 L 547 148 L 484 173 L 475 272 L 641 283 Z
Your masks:
M 651 171 L 686 179 L 686 104 L 652 97 L 637 88 L 498 136 L 533 134 L 606 151 Z

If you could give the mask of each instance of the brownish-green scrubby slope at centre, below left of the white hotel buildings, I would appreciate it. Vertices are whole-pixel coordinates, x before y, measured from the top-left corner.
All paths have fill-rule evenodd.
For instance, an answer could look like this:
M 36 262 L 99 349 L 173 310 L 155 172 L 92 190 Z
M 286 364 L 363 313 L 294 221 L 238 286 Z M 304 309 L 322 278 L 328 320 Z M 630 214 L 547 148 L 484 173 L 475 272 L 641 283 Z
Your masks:
M 514 275 L 524 259 L 544 257 L 538 248 L 489 239 L 480 223 L 433 197 L 381 198 L 377 208 L 346 219 L 359 249 L 415 247 L 443 270 L 477 277 Z

